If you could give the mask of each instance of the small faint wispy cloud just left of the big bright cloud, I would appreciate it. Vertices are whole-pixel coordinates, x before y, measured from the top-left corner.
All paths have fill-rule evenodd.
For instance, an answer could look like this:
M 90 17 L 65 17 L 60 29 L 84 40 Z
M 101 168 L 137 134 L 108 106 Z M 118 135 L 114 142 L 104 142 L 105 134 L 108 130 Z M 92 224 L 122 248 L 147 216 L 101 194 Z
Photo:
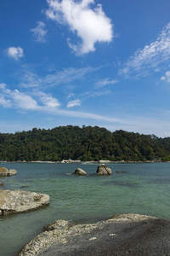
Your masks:
M 42 21 L 37 22 L 37 27 L 32 28 L 31 32 L 33 32 L 34 37 L 38 42 L 45 43 L 45 36 L 47 34 L 47 30 L 45 29 L 45 24 Z

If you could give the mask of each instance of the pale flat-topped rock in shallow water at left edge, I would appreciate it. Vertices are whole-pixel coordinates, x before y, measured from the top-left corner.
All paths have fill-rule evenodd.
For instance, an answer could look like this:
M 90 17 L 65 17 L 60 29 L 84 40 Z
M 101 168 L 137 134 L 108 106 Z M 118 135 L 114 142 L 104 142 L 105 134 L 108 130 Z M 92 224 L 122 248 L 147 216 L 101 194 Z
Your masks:
M 48 205 L 49 196 L 22 190 L 0 189 L 0 215 L 28 212 Z

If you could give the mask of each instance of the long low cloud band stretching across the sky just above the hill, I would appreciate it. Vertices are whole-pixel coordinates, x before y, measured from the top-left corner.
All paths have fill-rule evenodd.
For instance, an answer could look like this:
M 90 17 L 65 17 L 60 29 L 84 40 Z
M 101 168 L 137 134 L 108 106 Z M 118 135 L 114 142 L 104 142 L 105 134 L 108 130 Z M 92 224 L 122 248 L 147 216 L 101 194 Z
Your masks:
M 72 105 L 74 105 L 74 102 L 76 101 L 72 101 Z M 111 113 L 107 115 L 100 115 L 96 113 L 73 111 L 71 109 L 61 109 L 59 108 L 59 104 L 60 103 L 49 94 L 46 95 L 45 93 L 39 92 L 37 97 L 36 94 L 33 97 L 20 92 L 19 90 L 8 90 L 6 84 L 0 84 L 0 105 L 3 108 L 16 108 L 21 112 L 24 111 L 23 113 L 26 113 L 27 111 L 43 113 L 44 117 L 68 117 L 71 119 L 77 119 L 79 120 L 79 123 L 82 122 L 82 124 L 84 123 L 83 119 L 87 119 L 88 124 L 94 123 L 94 125 L 98 124 L 99 126 L 105 126 L 107 129 L 112 131 L 124 129 L 126 131 L 151 134 L 154 130 L 157 136 L 162 136 L 162 134 L 165 134 L 165 136 L 169 135 L 170 122 L 163 119 L 161 120 L 159 116 L 157 116 L 157 119 L 150 119 L 150 117 L 144 118 L 135 115 L 126 115 L 124 117 L 116 118 L 112 117 Z M 72 122 L 74 123 L 74 121 Z M 26 130 L 27 128 L 21 128 L 20 126 L 20 129 Z

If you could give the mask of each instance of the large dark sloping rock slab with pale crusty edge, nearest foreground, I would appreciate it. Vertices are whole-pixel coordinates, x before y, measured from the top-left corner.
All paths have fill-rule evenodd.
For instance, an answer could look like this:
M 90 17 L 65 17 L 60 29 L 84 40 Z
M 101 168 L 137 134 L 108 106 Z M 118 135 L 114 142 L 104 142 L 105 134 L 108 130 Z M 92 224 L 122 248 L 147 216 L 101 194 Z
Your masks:
M 127 214 L 98 224 L 59 220 L 48 225 L 18 255 L 165 256 L 170 255 L 170 222 Z

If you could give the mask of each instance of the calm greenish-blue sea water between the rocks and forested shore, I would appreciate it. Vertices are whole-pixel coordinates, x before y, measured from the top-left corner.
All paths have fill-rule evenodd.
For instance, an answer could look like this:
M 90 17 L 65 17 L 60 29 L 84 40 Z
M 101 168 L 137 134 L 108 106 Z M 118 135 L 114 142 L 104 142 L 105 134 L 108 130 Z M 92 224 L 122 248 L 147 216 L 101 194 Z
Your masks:
M 170 219 L 170 163 L 109 164 L 109 177 L 98 177 L 95 164 L 5 163 L 17 175 L 0 178 L 3 189 L 23 189 L 50 196 L 36 211 L 0 217 L 0 256 L 13 256 L 57 219 L 96 222 L 119 213 Z M 81 167 L 87 177 L 71 173 Z M 127 172 L 127 173 L 116 173 Z

